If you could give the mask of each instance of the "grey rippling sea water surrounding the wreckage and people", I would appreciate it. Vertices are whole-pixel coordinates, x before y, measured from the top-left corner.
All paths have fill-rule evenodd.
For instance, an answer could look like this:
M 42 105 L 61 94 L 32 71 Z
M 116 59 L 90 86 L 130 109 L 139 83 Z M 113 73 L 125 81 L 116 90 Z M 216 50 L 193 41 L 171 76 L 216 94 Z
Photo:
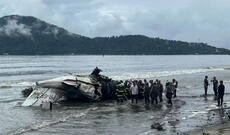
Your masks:
M 223 122 L 217 111 L 212 85 L 208 98 L 201 94 L 205 75 L 216 76 L 226 86 L 225 103 L 230 103 L 230 56 L 0 56 L 0 134 L 177 134 Z M 137 105 L 129 101 L 61 103 L 52 111 L 21 107 L 21 91 L 36 81 L 70 74 L 90 74 L 95 67 L 116 80 L 175 78 L 178 97 L 173 107 L 165 103 Z M 164 130 L 151 129 L 154 122 Z

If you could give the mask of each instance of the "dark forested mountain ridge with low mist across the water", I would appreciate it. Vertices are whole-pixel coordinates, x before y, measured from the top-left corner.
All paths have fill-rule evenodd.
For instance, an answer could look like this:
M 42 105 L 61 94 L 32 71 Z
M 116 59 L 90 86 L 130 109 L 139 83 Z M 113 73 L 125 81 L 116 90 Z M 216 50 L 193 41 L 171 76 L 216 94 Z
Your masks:
M 32 16 L 0 18 L 0 55 L 176 55 L 230 54 L 206 43 L 122 35 L 89 38 Z

